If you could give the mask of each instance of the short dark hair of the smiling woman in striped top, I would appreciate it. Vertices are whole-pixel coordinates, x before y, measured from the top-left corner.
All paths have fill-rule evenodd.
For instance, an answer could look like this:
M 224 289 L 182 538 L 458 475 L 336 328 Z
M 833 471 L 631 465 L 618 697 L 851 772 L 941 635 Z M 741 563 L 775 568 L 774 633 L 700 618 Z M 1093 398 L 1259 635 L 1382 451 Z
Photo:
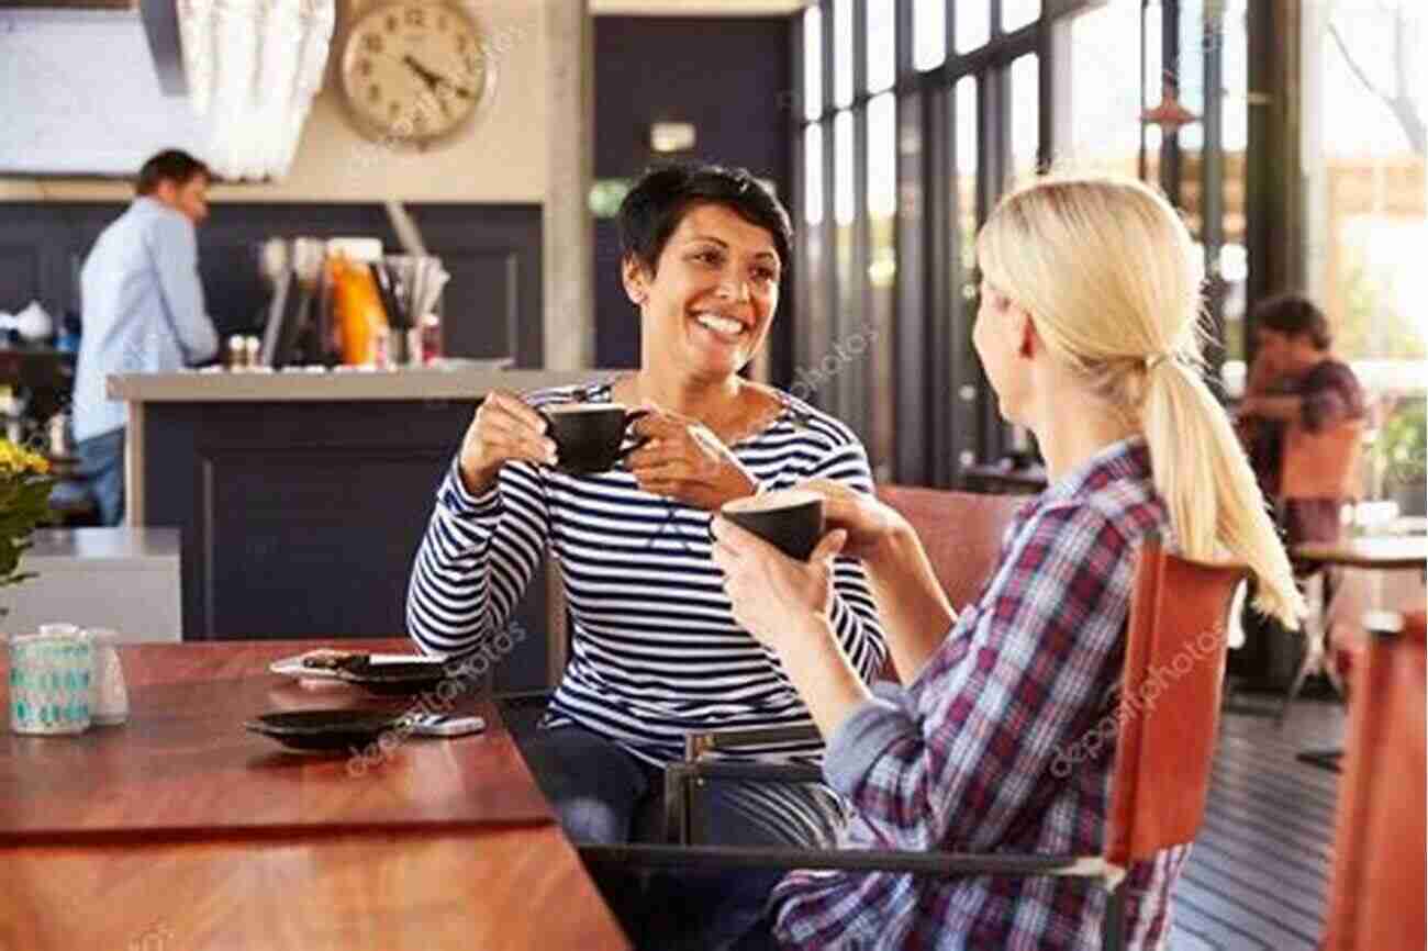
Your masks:
M 723 204 L 774 236 L 783 267 L 790 264 L 794 227 L 788 211 L 748 168 L 707 163 L 658 166 L 644 173 L 620 203 L 621 258 L 634 257 L 651 274 L 670 236 L 697 204 Z

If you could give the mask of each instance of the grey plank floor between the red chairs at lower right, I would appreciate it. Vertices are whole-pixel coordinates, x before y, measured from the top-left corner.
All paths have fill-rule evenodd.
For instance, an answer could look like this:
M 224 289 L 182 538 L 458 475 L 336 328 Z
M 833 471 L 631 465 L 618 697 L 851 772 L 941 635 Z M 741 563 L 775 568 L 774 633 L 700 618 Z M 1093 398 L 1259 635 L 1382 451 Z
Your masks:
M 1174 951 L 1314 951 L 1328 895 L 1338 775 L 1298 763 L 1339 745 L 1344 707 L 1295 704 L 1282 730 L 1221 718 L 1205 827 L 1175 890 Z

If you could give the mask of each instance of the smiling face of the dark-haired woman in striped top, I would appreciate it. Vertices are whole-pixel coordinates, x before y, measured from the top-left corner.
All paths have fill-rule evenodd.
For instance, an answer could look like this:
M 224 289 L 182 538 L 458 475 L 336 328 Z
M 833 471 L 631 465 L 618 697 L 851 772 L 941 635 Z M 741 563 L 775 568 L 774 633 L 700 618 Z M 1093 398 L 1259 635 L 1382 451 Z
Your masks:
M 650 274 L 624 264 L 640 306 L 644 354 L 660 368 L 721 380 L 748 363 L 778 310 L 781 261 L 774 236 L 723 204 L 691 206 Z

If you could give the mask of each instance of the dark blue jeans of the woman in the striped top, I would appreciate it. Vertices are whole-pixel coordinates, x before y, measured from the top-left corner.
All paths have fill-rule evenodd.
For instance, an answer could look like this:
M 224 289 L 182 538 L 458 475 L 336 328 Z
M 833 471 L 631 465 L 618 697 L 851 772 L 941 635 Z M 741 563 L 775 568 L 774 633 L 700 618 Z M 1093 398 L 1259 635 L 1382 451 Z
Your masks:
M 653 838 L 663 815 L 663 770 L 578 727 L 523 738 L 526 764 L 575 842 Z M 711 783 L 695 840 L 717 845 L 828 848 L 843 822 L 821 784 Z M 595 870 L 595 885 L 637 948 L 733 948 L 760 921 L 778 870 Z M 767 927 L 767 925 L 765 925 Z

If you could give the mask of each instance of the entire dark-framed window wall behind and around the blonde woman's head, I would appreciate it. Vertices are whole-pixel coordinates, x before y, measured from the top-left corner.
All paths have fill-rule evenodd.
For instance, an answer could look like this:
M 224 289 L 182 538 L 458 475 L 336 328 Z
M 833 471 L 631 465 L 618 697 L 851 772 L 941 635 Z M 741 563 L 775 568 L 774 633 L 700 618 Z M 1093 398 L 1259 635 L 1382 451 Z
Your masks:
M 952 485 L 1027 448 L 971 346 L 975 237 L 997 198 L 1048 163 L 1164 187 L 1205 257 L 1225 356 L 1244 353 L 1248 3 L 805 9 L 800 198 L 821 207 L 800 216 L 798 378 L 858 430 L 880 477 Z M 1142 121 L 1164 96 L 1192 120 Z

